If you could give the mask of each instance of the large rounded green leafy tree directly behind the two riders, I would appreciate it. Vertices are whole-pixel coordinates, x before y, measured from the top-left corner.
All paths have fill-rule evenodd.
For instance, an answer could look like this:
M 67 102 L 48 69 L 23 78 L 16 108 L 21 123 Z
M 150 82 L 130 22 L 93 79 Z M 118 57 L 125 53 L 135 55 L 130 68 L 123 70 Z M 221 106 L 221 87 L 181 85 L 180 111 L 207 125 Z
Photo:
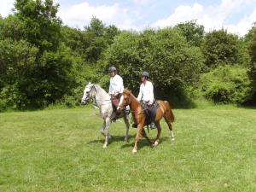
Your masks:
M 198 48 L 173 28 L 141 33 L 124 32 L 115 39 L 105 57 L 106 67 L 114 65 L 125 86 L 138 91 L 140 73 L 148 71 L 156 98 L 184 99 L 183 90 L 200 77 L 203 57 Z

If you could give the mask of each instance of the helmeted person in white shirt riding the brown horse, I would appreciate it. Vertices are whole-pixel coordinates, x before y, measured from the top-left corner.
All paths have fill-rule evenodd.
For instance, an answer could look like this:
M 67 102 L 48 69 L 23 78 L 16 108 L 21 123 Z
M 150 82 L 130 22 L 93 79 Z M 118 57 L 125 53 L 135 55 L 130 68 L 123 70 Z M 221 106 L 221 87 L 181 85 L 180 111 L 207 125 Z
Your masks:
M 149 80 L 148 72 L 141 73 L 141 81 L 142 81 L 142 84 L 140 85 L 140 92 L 139 92 L 139 95 L 137 96 L 137 100 L 142 102 L 143 108 L 146 107 L 149 110 L 154 104 L 154 86 L 152 82 Z M 148 113 L 147 110 L 145 110 L 145 112 Z M 150 114 L 148 114 L 148 116 L 151 121 L 150 128 L 154 129 L 155 128 L 155 125 L 153 122 L 154 119 L 151 117 Z

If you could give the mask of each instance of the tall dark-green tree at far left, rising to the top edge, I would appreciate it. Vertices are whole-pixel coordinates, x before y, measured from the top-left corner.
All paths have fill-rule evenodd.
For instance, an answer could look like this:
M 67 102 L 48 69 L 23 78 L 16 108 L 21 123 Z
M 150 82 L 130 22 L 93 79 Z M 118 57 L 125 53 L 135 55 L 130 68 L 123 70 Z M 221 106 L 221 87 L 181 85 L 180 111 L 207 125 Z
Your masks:
M 16 55 L 3 51 L 3 70 L 18 70 L 22 63 L 21 68 L 26 68 L 25 71 L 13 69 L 14 75 L 19 78 L 10 80 L 12 75 L 9 73 L 0 91 L 11 87 L 16 97 L 24 98 L 20 100 L 20 108 L 47 106 L 71 90 L 73 55 L 71 49 L 61 44 L 61 20 L 56 16 L 57 9 L 58 4 L 52 0 L 17 0 L 15 14 L 9 15 L 0 24 L 3 47 L 20 53 Z M 6 39 L 9 39 L 9 46 Z M 23 57 L 30 52 L 36 55 L 28 57 L 33 60 L 25 62 Z

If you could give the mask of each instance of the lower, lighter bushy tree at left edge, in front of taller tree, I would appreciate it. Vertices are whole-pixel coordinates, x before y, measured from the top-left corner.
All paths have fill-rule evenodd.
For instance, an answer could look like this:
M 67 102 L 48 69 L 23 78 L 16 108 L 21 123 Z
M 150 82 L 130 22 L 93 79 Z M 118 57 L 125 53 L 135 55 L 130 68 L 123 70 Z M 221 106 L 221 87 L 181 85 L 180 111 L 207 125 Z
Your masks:
M 30 89 L 38 48 L 10 38 L 0 40 L 0 111 L 5 108 L 26 108 L 25 90 Z

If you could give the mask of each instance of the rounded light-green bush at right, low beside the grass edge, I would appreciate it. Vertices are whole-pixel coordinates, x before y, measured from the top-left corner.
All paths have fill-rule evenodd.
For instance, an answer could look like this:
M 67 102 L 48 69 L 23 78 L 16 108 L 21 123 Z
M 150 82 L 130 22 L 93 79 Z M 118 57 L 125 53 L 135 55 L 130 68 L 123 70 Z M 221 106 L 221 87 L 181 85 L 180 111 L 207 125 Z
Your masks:
M 250 85 L 246 68 L 219 66 L 202 74 L 200 90 L 213 102 L 242 104 L 251 94 Z

